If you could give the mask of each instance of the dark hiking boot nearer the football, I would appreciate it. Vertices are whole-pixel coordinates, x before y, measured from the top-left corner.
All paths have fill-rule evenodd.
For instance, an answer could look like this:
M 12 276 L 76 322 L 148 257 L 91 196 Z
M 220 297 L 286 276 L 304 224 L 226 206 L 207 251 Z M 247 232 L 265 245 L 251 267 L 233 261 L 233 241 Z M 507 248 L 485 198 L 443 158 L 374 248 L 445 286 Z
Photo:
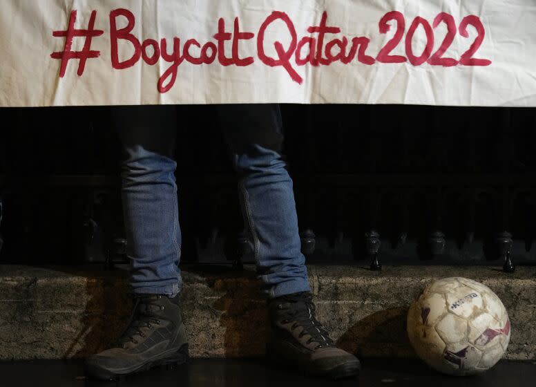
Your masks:
M 269 301 L 271 339 L 267 355 L 309 375 L 343 379 L 358 375 L 359 360 L 336 347 L 316 320 L 309 292 Z

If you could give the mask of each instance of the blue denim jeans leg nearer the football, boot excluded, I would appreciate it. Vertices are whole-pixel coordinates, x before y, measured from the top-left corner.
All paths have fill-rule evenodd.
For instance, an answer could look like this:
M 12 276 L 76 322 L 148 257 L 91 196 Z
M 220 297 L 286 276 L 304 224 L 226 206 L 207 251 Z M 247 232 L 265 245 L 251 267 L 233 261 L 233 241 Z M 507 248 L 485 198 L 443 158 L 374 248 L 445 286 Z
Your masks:
M 274 298 L 309 291 L 293 183 L 281 155 L 279 106 L 219 106 L 218 115 L 240 178 L 240 204 L 262 294 Z

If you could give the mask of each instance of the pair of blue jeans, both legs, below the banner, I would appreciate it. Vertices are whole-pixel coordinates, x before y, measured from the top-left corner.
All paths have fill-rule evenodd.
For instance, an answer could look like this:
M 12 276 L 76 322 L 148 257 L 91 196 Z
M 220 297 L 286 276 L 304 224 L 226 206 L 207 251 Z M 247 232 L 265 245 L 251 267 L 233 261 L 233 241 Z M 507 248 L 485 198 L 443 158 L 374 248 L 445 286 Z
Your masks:
M 279 107 L 216 109 L 238 173 L 240 205 L 262 294 L 274 298 L 309 291 L 293 184 L 281 156 Z M 113 108 L 125 151 L 122 198 L 131 286 L 137 294 L 175 296 L 181 290 L 175 112 L 173 106 Z

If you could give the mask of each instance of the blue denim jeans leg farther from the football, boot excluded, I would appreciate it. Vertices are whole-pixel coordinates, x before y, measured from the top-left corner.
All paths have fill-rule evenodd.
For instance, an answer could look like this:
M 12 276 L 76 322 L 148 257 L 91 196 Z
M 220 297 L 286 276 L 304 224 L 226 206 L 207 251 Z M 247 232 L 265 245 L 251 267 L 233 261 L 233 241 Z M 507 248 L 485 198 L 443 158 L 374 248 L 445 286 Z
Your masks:
M 124 147 L 122 200 L 136 294 L 180 292 L 181 234 L 174 159 L 175 108 L 113 108 Z

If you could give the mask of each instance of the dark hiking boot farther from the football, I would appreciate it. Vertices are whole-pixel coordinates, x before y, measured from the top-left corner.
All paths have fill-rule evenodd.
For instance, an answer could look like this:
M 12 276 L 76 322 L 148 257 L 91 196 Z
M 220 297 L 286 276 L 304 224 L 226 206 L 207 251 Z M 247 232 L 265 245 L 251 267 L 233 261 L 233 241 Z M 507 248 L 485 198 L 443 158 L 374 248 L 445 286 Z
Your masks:
M 135 296 L 128 327 L 113 348 L 86 359 L 86 372 L 101 380 L 118 379 L 155 366 L 183 364 L 188 343 L 178 296 Z

